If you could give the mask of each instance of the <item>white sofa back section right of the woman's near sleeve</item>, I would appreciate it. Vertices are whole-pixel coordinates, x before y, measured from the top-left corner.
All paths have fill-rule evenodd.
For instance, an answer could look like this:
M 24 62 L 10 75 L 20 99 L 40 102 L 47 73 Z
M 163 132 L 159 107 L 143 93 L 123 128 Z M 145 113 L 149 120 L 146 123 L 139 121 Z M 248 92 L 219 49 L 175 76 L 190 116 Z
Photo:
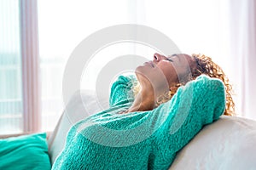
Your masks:
M 204 127 L 183 150 L 170 170 L 183 169 L 255 169 L 256 122 L 221 116 Z

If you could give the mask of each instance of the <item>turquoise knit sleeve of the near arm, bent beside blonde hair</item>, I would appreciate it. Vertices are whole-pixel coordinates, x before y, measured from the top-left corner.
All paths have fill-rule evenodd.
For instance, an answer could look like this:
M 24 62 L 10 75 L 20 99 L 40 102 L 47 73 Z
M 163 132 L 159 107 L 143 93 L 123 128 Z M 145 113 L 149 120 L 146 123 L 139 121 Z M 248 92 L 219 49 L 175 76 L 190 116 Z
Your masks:
M 170 167 L 177 151 L 204 125 L 217 120 L 224 108 L 224 84 L 218 79 L 201 76 L 179 88 L 172 100 L 154 110 L 161 126 L 152 138 L 148 169 Z

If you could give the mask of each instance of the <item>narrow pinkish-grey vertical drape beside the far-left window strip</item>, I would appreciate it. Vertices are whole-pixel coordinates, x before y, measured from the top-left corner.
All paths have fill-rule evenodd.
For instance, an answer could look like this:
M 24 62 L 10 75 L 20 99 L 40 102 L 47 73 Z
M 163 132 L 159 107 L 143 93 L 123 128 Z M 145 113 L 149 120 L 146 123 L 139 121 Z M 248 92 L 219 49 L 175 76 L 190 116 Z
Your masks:
M 38 2 L 20 0 L 24 132 L 38 132 L 40 120 Z

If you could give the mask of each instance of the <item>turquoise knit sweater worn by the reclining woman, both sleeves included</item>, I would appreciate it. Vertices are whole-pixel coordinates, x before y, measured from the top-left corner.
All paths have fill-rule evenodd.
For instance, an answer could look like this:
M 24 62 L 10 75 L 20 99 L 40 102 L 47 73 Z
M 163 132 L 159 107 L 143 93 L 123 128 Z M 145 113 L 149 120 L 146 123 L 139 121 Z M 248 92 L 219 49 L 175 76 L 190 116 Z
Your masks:
M 118 114 L 133 101 L 134 77 L 113 83 L 110 108 L 74 125 L 53 169 L 168 169 L 177 151 L 224 112 L 224 84 L 198 77 L 153 111 Z

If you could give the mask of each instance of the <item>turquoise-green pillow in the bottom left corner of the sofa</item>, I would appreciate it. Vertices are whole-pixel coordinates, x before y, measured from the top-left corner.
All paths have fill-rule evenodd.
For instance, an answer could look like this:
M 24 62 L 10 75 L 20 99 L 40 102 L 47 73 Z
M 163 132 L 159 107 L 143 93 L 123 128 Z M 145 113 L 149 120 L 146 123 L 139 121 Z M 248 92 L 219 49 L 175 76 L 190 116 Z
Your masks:
M 0 169 L 50 168 L 46 133 L 0 139 Z

